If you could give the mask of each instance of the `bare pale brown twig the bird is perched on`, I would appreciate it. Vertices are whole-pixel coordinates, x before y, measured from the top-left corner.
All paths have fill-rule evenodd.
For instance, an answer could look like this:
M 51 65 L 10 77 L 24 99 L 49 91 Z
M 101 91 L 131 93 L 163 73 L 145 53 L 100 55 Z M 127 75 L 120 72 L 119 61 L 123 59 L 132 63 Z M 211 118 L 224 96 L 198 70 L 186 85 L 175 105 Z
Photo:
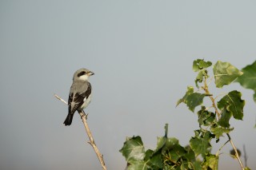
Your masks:
M 58 97 L 58 95 L 54 94 L 54 97 L 58 98 L 58 100 L 62 101 L 66 105 L 68 105 L 67 102 L 64 101 L 61 97 Z M 79 113 L 79 115 L 80 115 L 80 117 L 82 119 L 83 125 L 86 128 L 86 133 L 87 133 L 87 136 L 89 137 L 89 140 L 90 140 L 90 141 L 88 141 L 88 143 L 94 148 L 94 152 L 98 156 L 98 160 L 99 160 L 99 162 L 102 165 L 102 169 L 106 170 L 106 165 L 105 165 L 105 162 L 103 160 L 103 155 L 99 152 L 99 150 L 98 150 L 98 148 L 97 148 L 97 146 L 96 146 L 96 144 L 94 142 L 94 137 L 93 137 L 92 133 L 90 132 L 90 128 L 89 128 L 89 126 L 87 124 L 87 121 L 86 121 L 87 120 L 87 115 L 86 115 L 86 113 L 84 113 L 83 110 L 82 110 L 81 113 Z

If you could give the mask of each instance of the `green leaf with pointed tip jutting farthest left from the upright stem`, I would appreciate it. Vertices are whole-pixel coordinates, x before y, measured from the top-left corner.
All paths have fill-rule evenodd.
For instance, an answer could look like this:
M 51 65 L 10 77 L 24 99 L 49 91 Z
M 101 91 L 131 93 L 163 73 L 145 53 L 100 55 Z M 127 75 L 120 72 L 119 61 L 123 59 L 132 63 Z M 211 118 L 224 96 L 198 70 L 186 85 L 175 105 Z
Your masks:
M 206 97 L 206 94 L 194 93 L 194 88 L 192 86 L 189 86 L 187 88 L 185 96 L 182 97 L 182 99 L 178 100 L 177 105 L 183 102 L 192 112 L 194 112 L 195 107 L 202 104 L 202 100 L 204 97 Z

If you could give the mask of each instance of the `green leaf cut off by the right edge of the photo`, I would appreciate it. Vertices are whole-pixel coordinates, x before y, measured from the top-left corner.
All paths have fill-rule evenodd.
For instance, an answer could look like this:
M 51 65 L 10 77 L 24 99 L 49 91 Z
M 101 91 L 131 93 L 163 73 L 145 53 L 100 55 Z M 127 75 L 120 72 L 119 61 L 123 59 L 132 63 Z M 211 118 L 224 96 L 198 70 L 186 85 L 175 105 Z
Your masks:
M 236 81 L 246 89 L 254 90 L 254 101 L 256 102 L 256 61 L 252 65 L 247 65 L 242 69 L 242 76 L 238 77 Z

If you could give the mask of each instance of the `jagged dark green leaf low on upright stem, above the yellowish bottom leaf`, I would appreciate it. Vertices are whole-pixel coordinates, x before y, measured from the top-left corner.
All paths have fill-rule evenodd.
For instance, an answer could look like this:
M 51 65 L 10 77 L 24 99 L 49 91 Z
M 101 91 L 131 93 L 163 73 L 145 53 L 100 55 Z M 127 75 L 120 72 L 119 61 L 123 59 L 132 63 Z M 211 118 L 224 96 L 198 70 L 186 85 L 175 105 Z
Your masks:
M 205 157 L 206 152 L 211 148 L 210 140 L 214 137 L 209 131 L 203 132 L 201 130 L 194 131 L 195 136 L 190 139 L 190 147 L 194 151 L 195 155 L 199 154 Z

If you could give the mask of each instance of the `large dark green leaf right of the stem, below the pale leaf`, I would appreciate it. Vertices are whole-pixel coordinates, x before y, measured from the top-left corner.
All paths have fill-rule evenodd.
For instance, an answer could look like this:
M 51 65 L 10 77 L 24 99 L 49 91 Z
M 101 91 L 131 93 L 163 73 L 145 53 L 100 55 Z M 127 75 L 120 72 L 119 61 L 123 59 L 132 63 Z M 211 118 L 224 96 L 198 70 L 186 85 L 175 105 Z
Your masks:
M 242 100 L 241 97 L 242 93 L 236 90 L 231 91 L 218 101 L 218 109 L 226 108 L 227 112 L 230 112 L 235 119 L 242 120 L 243 107 L 246 104 L 246 101 Z

